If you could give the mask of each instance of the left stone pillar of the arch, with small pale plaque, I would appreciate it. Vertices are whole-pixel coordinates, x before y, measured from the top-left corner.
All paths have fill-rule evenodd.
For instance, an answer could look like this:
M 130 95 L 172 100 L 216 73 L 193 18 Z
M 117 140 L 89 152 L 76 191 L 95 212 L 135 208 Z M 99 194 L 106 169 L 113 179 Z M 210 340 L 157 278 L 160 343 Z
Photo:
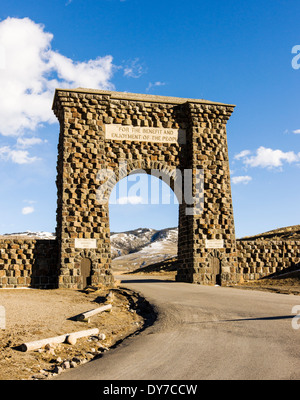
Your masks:
M 110 231 L 108 204 L 99 204 L 97 174 L 106 167 L 100 102 L 107 96 L 57 94 L 55 114 L 61 130 L 57 163 L 58 286 L 82 288 L 81 261 L 91 261 L 91 283 L 109 285 Z

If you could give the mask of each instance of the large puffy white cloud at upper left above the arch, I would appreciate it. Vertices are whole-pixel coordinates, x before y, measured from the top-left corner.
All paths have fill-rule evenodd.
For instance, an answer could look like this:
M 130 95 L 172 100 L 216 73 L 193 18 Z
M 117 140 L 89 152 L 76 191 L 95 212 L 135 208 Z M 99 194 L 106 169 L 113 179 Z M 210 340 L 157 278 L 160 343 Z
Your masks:
M 0 22 L 0 48 L 5 55 L 0 74 L 0 133 L 20 136 L 40 124 L 56 122 L 51 110 L 56 87 L 113 89 L 111 56 L 87 62 L 51 48 L 53 35 L 29 18 Z

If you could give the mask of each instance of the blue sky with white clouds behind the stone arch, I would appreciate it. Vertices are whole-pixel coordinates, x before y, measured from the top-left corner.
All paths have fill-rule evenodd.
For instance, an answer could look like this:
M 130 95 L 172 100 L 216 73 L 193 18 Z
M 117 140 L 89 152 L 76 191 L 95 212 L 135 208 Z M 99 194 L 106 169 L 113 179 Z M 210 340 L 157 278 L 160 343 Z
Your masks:
M 236 104 L 237 237 L 299 224 L 299 17 L 298 0 L 2 1 L 0 233 L 54 231 L 52 99 L 79 86 Z M 177 204 L 135 200 L 112 231 L 176 226 Z

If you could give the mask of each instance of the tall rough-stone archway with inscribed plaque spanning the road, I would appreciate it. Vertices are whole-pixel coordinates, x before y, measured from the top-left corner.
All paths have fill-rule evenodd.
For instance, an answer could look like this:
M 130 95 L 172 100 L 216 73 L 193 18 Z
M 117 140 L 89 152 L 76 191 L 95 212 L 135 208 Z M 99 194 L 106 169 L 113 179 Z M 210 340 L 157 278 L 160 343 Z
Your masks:
M 236 281 L 237 260 L 226 124 L 233 105 L 91 89 L 57 89 L 59 287 L 111 284 L 108 198 L 143 170 L 167 180 L 179 199 L 178 281 Z M 217 250 L 216 250 L 217 249 Z

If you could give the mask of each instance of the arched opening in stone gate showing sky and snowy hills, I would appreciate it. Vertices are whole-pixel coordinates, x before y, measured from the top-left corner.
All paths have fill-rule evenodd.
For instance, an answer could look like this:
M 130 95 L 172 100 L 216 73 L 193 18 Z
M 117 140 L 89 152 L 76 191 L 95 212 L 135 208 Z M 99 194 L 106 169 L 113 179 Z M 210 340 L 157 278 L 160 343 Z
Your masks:
M 175 268 L 179 203 L 171 178 L 131 171 L 110 194 L 109 220 L 113 272 Z

